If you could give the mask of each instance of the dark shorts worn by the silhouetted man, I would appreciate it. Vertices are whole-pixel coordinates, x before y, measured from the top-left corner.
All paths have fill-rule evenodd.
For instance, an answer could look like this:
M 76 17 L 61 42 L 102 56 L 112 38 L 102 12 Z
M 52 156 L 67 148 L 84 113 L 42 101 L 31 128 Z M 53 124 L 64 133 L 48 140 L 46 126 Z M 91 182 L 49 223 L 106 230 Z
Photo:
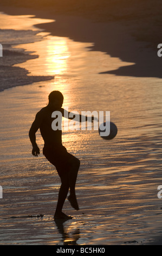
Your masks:
M 57 173 L 60 177 L 69 171 L 69 160 L 74 157 L 68 153 L 67 149 L 63 146 L 57 148 L 44 146 L 43 155 L 56 167 Z

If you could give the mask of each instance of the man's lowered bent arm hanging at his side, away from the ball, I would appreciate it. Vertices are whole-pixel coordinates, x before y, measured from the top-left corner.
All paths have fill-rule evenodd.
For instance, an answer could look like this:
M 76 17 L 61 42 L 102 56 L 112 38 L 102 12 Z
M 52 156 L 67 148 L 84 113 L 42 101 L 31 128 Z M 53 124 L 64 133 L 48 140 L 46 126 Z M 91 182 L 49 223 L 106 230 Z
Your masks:
M 35 117 L 35 120 L 34 120 L 33 124 L 31 125 L 31 128 L 29 130 L 30 142 L 33 145 L 32 154 L 34 156 L 38 156 L 40 154 L 40 149 L 38 148 L 38 146 L 36 144 L 36 135 L 35 135 L 35 133 L 40 128 L 41 123 L 42 123 L 42 117 L 41 117 L 40 113 L 38 112 L 36 114 L 36 117 Z

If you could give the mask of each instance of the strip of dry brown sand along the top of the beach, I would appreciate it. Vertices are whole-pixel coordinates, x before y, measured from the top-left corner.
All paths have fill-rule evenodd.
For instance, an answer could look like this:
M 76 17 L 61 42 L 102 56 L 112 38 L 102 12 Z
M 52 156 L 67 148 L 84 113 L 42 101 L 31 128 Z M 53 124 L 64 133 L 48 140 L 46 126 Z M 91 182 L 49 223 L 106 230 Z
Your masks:
M 69 2 L 69 4 L 68 4 Z M 8 1 L 1 1 L 0 8 L 8 10 L 11 15 L 33 14 L 37 17 L 51 18 L 55 15 L 59 16 L 75 16 L 92 22 L 109 23 L 117 22 L 122 26 L 127 27 L 128 33 L 134 36 L 136 40 L 146 42 L 151 47 L 156 47 L 160 43 L 160 25 L 161 25 L 161 11 L 159 9 L 159 0 L 136 0 L 131 2 L 120 3 L 119 0 L 104 1 L 94 0 L 83 4 L 82 0 L 77 3 L 68 0 L 67 4 L 60 0 L 47 0 L 46 6 L 40 0 L 37 3 L 30 1 L 16 0 L 15 3 L 8 3 Z M 16 11 L 16 14 L 15 14 Z

